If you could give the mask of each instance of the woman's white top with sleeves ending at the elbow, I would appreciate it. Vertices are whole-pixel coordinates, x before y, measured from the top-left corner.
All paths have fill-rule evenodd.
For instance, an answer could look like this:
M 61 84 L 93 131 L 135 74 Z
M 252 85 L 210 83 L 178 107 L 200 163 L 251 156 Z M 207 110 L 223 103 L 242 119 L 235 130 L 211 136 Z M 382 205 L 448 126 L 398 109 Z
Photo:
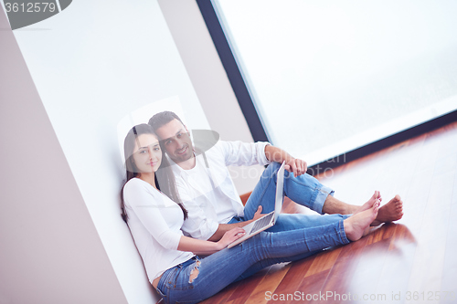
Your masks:
M 195 256 L 177 250 L 184 222 L 178 204 L 139 178 L 125 184 L 123 200 L 127 223 L 151 283 L 166 269 Z

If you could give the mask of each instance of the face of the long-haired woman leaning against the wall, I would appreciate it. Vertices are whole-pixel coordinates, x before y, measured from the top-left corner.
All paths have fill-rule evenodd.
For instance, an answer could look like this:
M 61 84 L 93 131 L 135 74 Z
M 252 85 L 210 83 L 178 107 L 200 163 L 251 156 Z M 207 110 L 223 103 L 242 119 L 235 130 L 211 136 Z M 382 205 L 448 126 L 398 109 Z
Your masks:
M 162 162 L 162 150 L 159 141 L 153 134 L 142 134 L 136 138 L 133 149 L 133 162 L 139 173 L 153 173 Z

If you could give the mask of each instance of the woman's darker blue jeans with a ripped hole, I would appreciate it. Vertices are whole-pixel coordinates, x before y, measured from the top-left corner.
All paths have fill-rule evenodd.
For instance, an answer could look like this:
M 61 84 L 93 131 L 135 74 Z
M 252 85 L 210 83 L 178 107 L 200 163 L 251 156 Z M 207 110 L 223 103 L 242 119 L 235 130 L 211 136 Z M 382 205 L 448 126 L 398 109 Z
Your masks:
M 343 218 L 328 225 L 283 232 L 261 232 L 257 236 L 217 253 L 185 263 L 164 272 L 157 285 L 165 303 L 197 303 L 241 278 L 250 267 L 263 267 L 292 261 L 329 246 L 349 243 Z M 197 271 L 197 273 L 195 273 Z M 191 280 L 191 273 L 194 279 Z

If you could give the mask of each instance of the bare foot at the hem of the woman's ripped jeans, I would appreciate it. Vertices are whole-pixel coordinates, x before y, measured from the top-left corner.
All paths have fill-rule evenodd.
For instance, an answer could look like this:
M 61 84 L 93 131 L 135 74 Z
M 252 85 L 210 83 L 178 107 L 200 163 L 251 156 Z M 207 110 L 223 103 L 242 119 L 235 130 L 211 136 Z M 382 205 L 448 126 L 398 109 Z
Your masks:
M 356 241 L 360 239 L 360 237 L 366 235 L 367 228 L 369 228 L 369 225 L 373 223 L 377 217 L 379 204 L 379 200 L 376 200 L 371 208 L 359 212 L 356 215 L 352 215 L 343 221 L 345 236 L 347 236 L 349 240 Z

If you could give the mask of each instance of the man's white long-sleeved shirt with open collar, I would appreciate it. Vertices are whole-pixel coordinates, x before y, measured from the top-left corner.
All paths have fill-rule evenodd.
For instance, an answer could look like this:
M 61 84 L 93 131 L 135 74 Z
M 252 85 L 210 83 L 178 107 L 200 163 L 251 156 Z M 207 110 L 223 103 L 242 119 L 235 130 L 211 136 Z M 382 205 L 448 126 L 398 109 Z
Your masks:
M 265 156 L 265 146 L 269 144 L 219 141 L 205 155 L 197 155 L 196 166 L 190 170 L 171 161 L 178 193 L 188 212 L 182 226 L 186 236 L 207 240 L 219 224 L 244 215 L 244 206 L 227 166 L 271 163 Z

